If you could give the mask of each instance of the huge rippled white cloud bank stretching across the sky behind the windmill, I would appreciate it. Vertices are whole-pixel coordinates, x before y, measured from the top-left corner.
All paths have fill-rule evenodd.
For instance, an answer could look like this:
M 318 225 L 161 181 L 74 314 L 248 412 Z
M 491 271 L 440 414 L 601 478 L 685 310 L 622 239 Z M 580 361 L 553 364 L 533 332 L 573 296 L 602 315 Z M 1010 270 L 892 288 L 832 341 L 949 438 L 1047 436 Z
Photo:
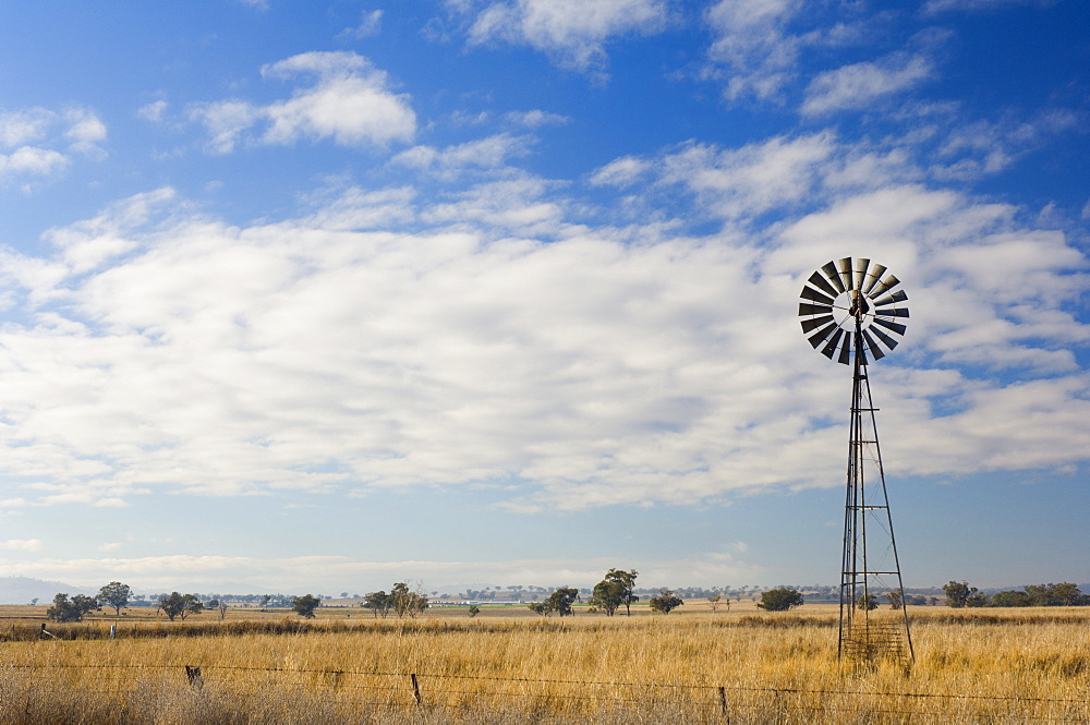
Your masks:
M 501 165 L 514 142 L 399 162 Z M 843 368 L 794 316 L 802 279 L 846 249 L 909 290 L 882 368 L 903 472 L 1081 461 L 1085 256 L 882 150 L 822 132 L 594 174 L 688 196 L 685 214 L 724 223 L 703 235 L 577 223 L 562 186 L 510 169 L 437 196 L 331 189 L 245 227 L 135 196 L 52 230 L 48 259 L 0 257 L 28 314 L 0 330 L 0 467 L 38 505 L 518 480 L 511 510 L 580 509 L 826 485 Z M 997 411 L 1033 432 L 980 424 Z M 950 447 L 950 430 L 973 434 Z M 1027 435 L 1052 436 L 1051 462 Z

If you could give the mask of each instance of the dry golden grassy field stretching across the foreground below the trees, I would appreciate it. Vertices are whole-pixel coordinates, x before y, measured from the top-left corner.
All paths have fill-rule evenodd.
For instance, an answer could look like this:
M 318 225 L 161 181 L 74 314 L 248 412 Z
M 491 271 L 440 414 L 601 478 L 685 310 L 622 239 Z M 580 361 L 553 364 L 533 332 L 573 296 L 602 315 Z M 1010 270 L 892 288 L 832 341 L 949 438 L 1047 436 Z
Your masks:
M 0 607 L 0 723 L 1090 722 L 1086 608 L 913 608 L 907 670 L 839 663 L 835 606 L 173 624 L 134 611 L 39 639 L 27 617 L 43 612 Z

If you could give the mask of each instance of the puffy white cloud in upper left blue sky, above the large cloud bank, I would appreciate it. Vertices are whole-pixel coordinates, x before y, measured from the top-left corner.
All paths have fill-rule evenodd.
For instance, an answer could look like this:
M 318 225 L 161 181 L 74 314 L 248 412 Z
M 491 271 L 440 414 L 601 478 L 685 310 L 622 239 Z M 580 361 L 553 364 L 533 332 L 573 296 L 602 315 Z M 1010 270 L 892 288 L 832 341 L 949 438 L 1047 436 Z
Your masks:
M 328 138 L 342 146 L 385 146 L 415 134 L 408 97 L 392 93 L 387 74 L 356 53 L 301 53 L 264 67 L 262 74 L 283 80 L 313 75 L 316 83 L 266 106 L 230 99 L 193 107 L 191 118 L 210 133 L 214 153 L 233 152 L 241 140 L 286 145 Z

